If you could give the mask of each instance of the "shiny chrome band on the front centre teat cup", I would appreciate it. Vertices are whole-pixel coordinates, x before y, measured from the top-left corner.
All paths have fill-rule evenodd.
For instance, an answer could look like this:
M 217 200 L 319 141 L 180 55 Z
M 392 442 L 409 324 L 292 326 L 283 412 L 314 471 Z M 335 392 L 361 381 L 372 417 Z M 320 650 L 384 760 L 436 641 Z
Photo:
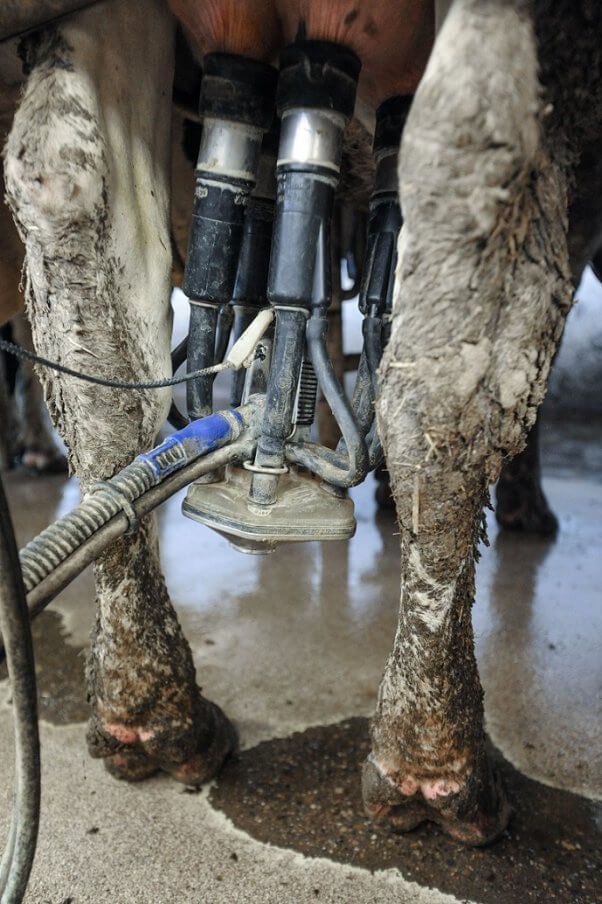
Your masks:
M 345 118 L 331 110 L 287 110 L 280 127 L 278 166 L 305 163 L 338 173 Z

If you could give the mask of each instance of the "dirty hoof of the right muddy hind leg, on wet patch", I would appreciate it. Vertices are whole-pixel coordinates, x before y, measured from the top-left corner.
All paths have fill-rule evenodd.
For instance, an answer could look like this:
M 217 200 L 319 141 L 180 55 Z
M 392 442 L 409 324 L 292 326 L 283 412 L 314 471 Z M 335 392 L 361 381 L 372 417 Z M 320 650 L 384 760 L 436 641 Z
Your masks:
M 488 787 L 475 792 L 449 778 L 421 782 L 406 778 L 399 783 L 369 756 L 362 792 L 368 816 L 393 832 L 410 832 L 423 822 L 434 822 L 456 841 L 477 847 L 499 838 L 512 815 L 501 777 L 493 770 Z

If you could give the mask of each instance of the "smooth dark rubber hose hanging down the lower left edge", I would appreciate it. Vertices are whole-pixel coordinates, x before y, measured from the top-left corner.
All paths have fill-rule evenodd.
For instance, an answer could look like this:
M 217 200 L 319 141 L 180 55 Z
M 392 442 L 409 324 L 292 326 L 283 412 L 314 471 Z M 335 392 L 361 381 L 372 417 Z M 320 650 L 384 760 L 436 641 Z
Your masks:
M 15 796 L 2 865 L 0 900 L 23 900 L 40 819 L 40 741 L 29 615 L 19 554 L 0 479 L 0 630 L 4 638 L 15 719 Z

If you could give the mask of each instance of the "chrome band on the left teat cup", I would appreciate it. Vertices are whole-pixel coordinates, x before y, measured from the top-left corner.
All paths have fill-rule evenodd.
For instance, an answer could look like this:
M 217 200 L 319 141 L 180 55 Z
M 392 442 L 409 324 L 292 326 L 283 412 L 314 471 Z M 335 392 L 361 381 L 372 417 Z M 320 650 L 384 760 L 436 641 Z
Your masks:
M 261 129 L 206 116 L 197 170 L 255 182 L 262 137 Z

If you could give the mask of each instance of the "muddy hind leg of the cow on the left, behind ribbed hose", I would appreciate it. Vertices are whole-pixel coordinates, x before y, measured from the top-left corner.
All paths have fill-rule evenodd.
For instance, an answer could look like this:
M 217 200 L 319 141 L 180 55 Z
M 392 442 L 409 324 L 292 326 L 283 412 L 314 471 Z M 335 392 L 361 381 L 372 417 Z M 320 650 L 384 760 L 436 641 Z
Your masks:
M 155 0 L 99 3 L 30 41 L 6 157 L 40 353 L 128 380 L 169 373 L 168 149 L 173 22 Z M 84 491 L 149 447 L 167 393 L 44 374 Z M 88 663 L 93 756 L 120 778 L 210 776 L 233 744 L 200 694 L 154 521 L 95 565 Z

